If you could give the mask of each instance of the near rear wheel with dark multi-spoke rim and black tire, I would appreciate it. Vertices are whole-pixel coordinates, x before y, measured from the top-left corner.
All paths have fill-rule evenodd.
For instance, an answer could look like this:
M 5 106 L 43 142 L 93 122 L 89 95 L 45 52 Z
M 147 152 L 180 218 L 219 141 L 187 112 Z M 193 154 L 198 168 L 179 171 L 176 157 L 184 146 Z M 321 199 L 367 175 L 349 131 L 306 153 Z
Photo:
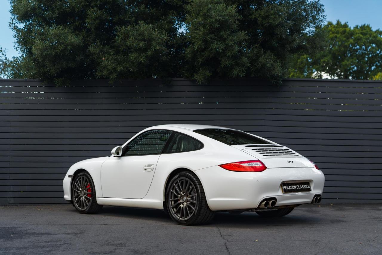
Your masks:
M 165 202 L 168 214 L 179 225 L 207 224 L 215 215 L 207 205 L 200 180 L 192 172 L 180 172 L 171 179 Z

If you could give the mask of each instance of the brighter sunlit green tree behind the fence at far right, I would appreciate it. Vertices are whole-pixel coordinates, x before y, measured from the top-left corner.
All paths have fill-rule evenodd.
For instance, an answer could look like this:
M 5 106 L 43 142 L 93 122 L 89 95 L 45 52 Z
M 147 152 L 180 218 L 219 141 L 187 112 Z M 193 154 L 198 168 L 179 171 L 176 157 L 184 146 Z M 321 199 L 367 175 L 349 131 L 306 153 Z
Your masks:
M 355 26 L 328 22 L 322 28 L 327 47 L 311 55 L 296 55 L 291 77 L 320 77 L 369 80 L 382 71 L 382 31 L 369 25 Z

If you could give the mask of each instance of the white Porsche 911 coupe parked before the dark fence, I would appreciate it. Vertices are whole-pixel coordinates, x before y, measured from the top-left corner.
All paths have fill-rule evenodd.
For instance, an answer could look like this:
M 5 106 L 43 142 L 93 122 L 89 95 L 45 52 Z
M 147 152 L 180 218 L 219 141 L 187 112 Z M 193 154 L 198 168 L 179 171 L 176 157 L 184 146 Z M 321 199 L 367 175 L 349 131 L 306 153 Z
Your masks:
M 63 180 L 80 213 L 103 205 L 162 209 L 181 225 L 215 211 L 278 217 L 319 203 L 324 174 L 295 151 L 224 127 L 161 125 L 142 130 L 112 155 L 80 161 Z

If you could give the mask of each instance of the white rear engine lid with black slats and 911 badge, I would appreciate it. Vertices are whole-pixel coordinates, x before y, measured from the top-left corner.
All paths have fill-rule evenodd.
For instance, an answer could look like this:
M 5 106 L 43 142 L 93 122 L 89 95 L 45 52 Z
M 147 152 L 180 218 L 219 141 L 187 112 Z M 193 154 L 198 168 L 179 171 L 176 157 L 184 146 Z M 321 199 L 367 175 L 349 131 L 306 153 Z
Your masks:
M 232 147 L 260 159 L 267 168 L 314 167 L 309 159 L 282 145 L 233 145 Z

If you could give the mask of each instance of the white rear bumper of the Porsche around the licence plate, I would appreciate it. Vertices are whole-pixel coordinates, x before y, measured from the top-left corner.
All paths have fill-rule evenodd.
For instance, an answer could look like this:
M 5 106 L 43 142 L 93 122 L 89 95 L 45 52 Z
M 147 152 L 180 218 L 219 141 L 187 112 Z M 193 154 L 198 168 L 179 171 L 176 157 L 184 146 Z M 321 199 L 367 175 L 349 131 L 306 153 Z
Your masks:
M 276 206 L 310 203 L 324 189 L 324 174 L 313 167 L 269 168 L 263 172 L 233 172 L 219 166 L 195 171 L 212 211 L 254 209 L 264 198 L 275 197 Z M 310 192 L 283 193 L 285 181 L 308 181 Z

